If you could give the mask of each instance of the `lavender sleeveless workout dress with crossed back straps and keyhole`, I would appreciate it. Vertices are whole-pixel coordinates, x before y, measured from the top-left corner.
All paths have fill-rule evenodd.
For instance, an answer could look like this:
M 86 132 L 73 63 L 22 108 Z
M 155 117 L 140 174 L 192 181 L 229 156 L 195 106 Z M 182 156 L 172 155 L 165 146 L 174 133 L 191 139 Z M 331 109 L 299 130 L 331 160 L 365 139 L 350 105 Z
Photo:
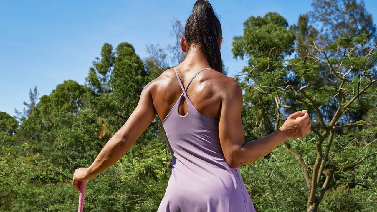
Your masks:
M 208 69 L 208 68 L 207 68 Z M 158 212 L 255 212 L 239 168 L 225 161 L 219 140 L 218 120 L 199 113 L 181 84 L 182 94 L 162 126 L 172 154 L 172 175 Z M 186 115 L 178 112 L 185 98 Z

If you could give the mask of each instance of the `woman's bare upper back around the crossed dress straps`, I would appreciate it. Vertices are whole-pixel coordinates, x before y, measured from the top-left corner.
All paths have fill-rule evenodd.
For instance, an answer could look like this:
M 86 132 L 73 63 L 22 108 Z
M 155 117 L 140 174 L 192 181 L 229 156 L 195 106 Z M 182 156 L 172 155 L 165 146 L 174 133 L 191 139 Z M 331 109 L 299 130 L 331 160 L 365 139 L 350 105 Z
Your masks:
M 207 67 L 204 67 L 207 68 Z M 186 87 L 191 78 L 202 68 L 183 68 L 177 66 L 179 78 Z M 187 89 L 187 95 L 201 114 L 218 119 L 221 108 L 222 95 L 226 84 L 233 81 L 213 69 L 207 69 L 199 73 Z M 182 94 L 182 89 L 173 69 L 163 72 L 158 78 L 151 82 L 151 94 L 153 104 L 161 121 L 163 121 L 174 104 Z M 188 107 L 184 98 L 179 106 L 179 114 L 187 114 Z

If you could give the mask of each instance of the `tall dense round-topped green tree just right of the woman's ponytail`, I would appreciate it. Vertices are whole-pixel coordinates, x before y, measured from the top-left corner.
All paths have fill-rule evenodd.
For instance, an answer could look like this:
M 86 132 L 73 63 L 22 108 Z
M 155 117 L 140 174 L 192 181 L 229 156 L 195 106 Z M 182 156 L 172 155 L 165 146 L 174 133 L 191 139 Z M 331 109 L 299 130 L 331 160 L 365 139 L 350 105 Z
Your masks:
M 264 74 L 279 75 L 284 68 L 282 61 L 293 52 L 294 34 L 287 29 L 288 22 L 276 12 L 264 17 L 251 16 L 244 23 L 244 35 L 235 36 L 232 43 L 234 58 L 248 59 L 248 65 L 236 76 L 244 91 L 242 110 L 245 139 L 254 140 L 264 137 L 274 130 L 274 99 L 264 92 L 251 89 L 255 81 L 268 80 Z M 266 81 L 279 84 L 282 79 Z M 269 105 L 269 108 L 265 106 Z M 250 115 L 253 114 L 253 115 Z

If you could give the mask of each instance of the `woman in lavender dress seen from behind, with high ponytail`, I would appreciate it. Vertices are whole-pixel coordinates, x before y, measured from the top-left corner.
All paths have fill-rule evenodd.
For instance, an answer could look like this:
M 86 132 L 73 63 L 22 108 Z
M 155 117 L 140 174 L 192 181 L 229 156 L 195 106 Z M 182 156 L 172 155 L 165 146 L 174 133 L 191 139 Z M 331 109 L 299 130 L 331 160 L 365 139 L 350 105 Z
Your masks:
M 143 89 L 135 111 L 93 164 L 75 170 L 73 184 L 92 179 L 118 161 L 157 114 L 170 152 L 172 175 L 159 212 L 255 211 L 239 166 L 253 163 L 289 138 L 310 132 L 306 111 L 291 114 L 280 129 L 244 141 L 242 90 L 222 74 L 221 25 L 207 0 L 198 0 L 181 38 L 185 60 Z

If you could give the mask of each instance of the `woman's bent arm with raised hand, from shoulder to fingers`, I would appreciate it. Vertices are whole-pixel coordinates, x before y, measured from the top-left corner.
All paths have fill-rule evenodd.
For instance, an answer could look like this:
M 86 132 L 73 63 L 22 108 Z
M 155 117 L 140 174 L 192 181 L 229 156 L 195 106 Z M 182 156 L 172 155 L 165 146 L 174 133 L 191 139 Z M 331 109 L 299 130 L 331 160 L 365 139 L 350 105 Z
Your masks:
M 222 96 L 219 136 L 225 160 L 233 168 L 254 163 L 280 143 L 290 138 L 304 137 L 310 132 L 309 114 L 307 111 L 298 111 L 289 115 L 283 126 L 275 132 L 245 143 L 241 121 L 242 101 L 242 90 L 238 83 L 227 83 Z

